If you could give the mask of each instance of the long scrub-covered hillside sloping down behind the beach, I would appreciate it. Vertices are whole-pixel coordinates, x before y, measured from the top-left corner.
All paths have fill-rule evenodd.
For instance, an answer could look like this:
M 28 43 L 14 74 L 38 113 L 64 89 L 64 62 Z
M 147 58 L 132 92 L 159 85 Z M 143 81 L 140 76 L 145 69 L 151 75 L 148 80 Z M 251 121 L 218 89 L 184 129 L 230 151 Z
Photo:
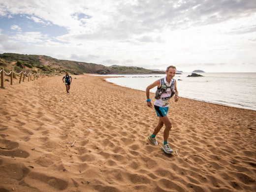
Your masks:
M 4 63 L 1 64 L 1 61 Z M 102 64 L 68 61 L 68 60 L 58 60 L 45 55 L 24 55 L 16 53 L 3 53 L 0 54 L 0 65 L 7 63 L 15 64 L 20 68 L 25 69 L 28 67 L 37 72 L 44 71 L 56 74 L 62 74 L 64 72 L 69 72 L 70 74 L 84 74 L 84 73 L 95 73 L 95 74 L 164 74 L 164 71 L 156 71 L 145 69 L 136 66 L 119 66 L 113 65 L 104 66 Z

